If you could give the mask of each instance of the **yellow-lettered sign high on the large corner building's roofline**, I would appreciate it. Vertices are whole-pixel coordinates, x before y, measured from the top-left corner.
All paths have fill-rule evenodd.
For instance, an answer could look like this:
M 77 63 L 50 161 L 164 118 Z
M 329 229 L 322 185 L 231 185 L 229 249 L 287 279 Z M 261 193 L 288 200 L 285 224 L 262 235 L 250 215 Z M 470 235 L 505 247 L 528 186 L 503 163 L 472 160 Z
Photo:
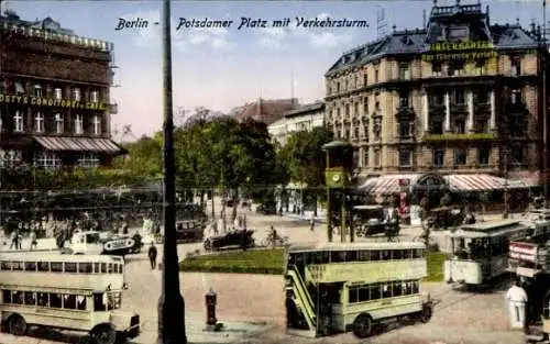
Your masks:
M 447 59 L 485 59 L 497 57 L 493 43 L 484 41 L 441 42 L 430 44 L 428 54 L 422 56 L 426 62 Z

